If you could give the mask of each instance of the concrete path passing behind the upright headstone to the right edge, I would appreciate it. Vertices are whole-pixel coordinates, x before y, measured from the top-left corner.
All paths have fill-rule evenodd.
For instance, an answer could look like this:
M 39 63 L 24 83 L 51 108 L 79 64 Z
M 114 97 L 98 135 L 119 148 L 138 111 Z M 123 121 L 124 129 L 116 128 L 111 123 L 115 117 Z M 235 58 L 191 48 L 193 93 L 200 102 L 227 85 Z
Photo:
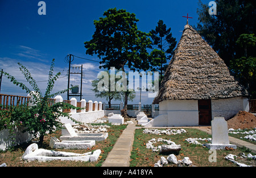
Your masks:
M 204 132 L 207 132 L 208 134 L 212 134 L 212 129 L 210 126 L 195 126 L 192 128 L 202 130 Z M 245 146 L 247 147 L 247 149 L 250 149 L 251 152 L 254 152 L 256 154 L 256 145 L 254 145 L 253 143 L 242 141 L 241 139 L 230 137 L 230 136 L 229 136 L 229 142 L 238 147 Z

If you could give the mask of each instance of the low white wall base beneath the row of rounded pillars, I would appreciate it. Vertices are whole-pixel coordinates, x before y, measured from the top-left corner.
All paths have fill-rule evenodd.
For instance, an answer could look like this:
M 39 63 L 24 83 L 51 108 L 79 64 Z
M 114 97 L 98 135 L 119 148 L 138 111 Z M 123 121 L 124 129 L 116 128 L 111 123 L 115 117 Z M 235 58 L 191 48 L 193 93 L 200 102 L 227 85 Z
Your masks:
M 90 122 L 96 121 L 99 118 L 104 117 L 105 111 L 101 110 L 101 111 L 92 111 L 92 112 L 69 113 L 69 115 L 72 118 L 74 118 L 76 121 L 90 123 Z M 71 125 L 76 125 L 76 123 L 70 120 L 68 117 L 59 117 L 59 118 L 63 124 L 70 123 Z

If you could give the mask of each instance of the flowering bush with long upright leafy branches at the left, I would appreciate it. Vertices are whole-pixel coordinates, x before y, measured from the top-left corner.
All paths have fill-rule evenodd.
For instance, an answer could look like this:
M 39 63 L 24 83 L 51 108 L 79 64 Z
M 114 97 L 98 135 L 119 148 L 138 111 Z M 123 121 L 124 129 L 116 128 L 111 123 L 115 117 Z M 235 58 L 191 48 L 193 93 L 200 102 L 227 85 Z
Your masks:
M 22 126 L 24 128 L 23 132 L 29 132 L 34 135 L 36 138 L 39 134 L 39 144 L 42 144 L 44 134 L 52 133 L 56 129 L 62 128 L 62 123 L 59 120 L 60 116 L 68 117 L 72 121 L 77 122 L 68 113 L 63 113 L 60 111 L 60 108 L 67 109 L 81 109 L 74 107 L 71 104 L 67 103 L 55 103 L 51 106 L 48 105 L 48 99 L 52 98 L 55 95 L 63 94 L 67 90 L 56 92 L 51 94 L 55 81 L 59 78 L 60 73 L 53 75 L 53 66 L 54 59 L 52 60 L 51 67 L 49 70 L 48 84 L 46 92 L 42 95 L 36 81 L 32 78 L 30 72 L 24 67 L 21 63 L 19 64 L 19 69 L 24 74 L 24 77 L 27 79 L 27 82 L 30 83 L 33 88 L 33 92 L 28 89 L 23 83 L 18 82 L 13 76 L 8 73 L 3 72 L 11 82 L 19 86 L 23 90 L 26 90 L 27 93 L 31 95 L 29 102 L 32 106 L 18 105 L 18 106 L 5 106 L 5 109 L 0 109 L 0 130 L 9 129 L 10 132 L 13 131 L 14 126 Z M 0 107 L 2 107 L 0 105 Z

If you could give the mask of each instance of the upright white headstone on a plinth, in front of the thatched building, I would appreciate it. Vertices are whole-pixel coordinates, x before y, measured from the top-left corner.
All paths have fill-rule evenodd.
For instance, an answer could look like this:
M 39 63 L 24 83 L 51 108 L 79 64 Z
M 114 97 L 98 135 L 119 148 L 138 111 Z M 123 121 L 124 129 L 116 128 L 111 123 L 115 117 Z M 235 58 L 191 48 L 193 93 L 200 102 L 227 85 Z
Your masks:
M 225 147 L 237 149 L 229 143 L 228 122 L 224 117 L 214 117 L 212 120 L 212 143 L 206 144 L 209 149 L 222 150 Z

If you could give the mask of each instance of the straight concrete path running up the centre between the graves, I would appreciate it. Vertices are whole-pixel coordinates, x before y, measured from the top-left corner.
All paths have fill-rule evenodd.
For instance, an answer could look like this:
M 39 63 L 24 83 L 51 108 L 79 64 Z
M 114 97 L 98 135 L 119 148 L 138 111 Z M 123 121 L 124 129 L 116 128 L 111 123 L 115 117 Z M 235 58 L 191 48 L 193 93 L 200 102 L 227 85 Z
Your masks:
M 112 151 L 109 152 L 108 157 L 102 164 L 102 167 L 129 167 L 136 124 L 136 121 L 132 121 L 134 124 L 127 125 L 127 128 L 123 130 L 123 133 L 117 139 L 117 142 L 115 142 Z

